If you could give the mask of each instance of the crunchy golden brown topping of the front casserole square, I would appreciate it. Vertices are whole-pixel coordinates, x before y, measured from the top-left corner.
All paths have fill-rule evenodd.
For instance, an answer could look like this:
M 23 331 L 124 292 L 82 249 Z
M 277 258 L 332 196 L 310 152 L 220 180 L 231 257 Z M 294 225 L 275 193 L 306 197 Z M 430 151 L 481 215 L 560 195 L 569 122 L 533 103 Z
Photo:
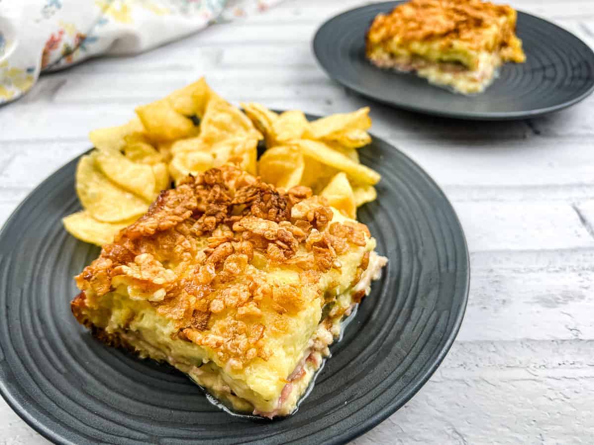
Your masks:
M 241 369 L 270 356 L 267 329 L 320 295 L 318 281 L 340 270 L 339 256 L 365 246 L 369 231 L 331 222 L 333 211 L 307 187 L 285 192 L 232 166 L 189 177 L 161 193 L 146 215 L 122 230 L 76 277 L 72 311 L 120 286 L 175 323 L 172 336 L 216 352 Z M 298 285 L 268 272 L 282 265 Z M 266 328 L 263 310 L 276 314 Z

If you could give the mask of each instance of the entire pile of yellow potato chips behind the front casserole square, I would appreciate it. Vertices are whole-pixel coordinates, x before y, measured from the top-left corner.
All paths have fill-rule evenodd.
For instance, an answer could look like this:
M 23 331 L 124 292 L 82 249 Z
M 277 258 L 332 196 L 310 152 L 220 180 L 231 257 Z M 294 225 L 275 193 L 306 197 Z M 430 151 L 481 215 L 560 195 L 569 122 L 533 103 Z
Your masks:
M 351 218 L 376 198 L 380 175 L 360 164 L 356 151 L 371 142 L 367 107 L 312 122 L 298 110 L 242 107 L 245 114 L 200 79 L 138 107 L 125 125 L 92 131 L 95 150 L 81 158 L 76 173 L 84 210 L 64 218 L 65 228 L 80 240 L 109 243 L 161 190 L 225 163 L 277 187 L 311 187 Z M 266 151 L 258 161 L 261 139 Z

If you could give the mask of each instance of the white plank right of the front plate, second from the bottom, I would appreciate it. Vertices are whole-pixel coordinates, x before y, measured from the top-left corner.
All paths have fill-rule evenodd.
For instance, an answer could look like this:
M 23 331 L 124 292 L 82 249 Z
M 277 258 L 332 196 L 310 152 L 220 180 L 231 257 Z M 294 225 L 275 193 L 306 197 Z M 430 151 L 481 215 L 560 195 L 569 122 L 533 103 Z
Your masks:
M 594 271 L 473 270 L 460 341 L 594 337 Z

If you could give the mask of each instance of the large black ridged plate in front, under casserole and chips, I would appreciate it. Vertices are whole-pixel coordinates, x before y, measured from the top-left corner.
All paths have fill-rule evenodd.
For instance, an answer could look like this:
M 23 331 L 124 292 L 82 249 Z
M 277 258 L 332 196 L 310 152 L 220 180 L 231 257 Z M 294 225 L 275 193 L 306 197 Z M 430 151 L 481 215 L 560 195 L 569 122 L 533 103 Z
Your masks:
M 377 425 L 450 348 L 469 266 L 459 221 L 427 174 L 377 138 L 359 152 L 383 176 L 377 201 L 359 217 L 390 262 L 294 415 L 232 417 L 172 367 L 105 347 L 75 321 L 72 276 L 99 253 L 60 221 L 80 208 L 77 159 L 37 187 L 0 233 L 4 398 L 57 443 L 342 443 Z

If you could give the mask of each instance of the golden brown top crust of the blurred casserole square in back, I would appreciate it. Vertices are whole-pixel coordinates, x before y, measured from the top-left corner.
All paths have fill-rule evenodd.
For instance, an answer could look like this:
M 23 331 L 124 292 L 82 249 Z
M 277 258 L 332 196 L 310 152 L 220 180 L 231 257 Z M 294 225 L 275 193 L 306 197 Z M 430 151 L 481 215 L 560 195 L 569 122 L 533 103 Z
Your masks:
M 478 51 L 501 49 L 504 60 L 523 62 L 515 28 L 516 11 L 508 5 L 481 0 L 411 0 L 375 17 L 367 34 L 367 51 L 369 55 L 374 46 L 389 41 L 406 46 L 407 42 L 438 40 L 444 50 L 457 42 Z

